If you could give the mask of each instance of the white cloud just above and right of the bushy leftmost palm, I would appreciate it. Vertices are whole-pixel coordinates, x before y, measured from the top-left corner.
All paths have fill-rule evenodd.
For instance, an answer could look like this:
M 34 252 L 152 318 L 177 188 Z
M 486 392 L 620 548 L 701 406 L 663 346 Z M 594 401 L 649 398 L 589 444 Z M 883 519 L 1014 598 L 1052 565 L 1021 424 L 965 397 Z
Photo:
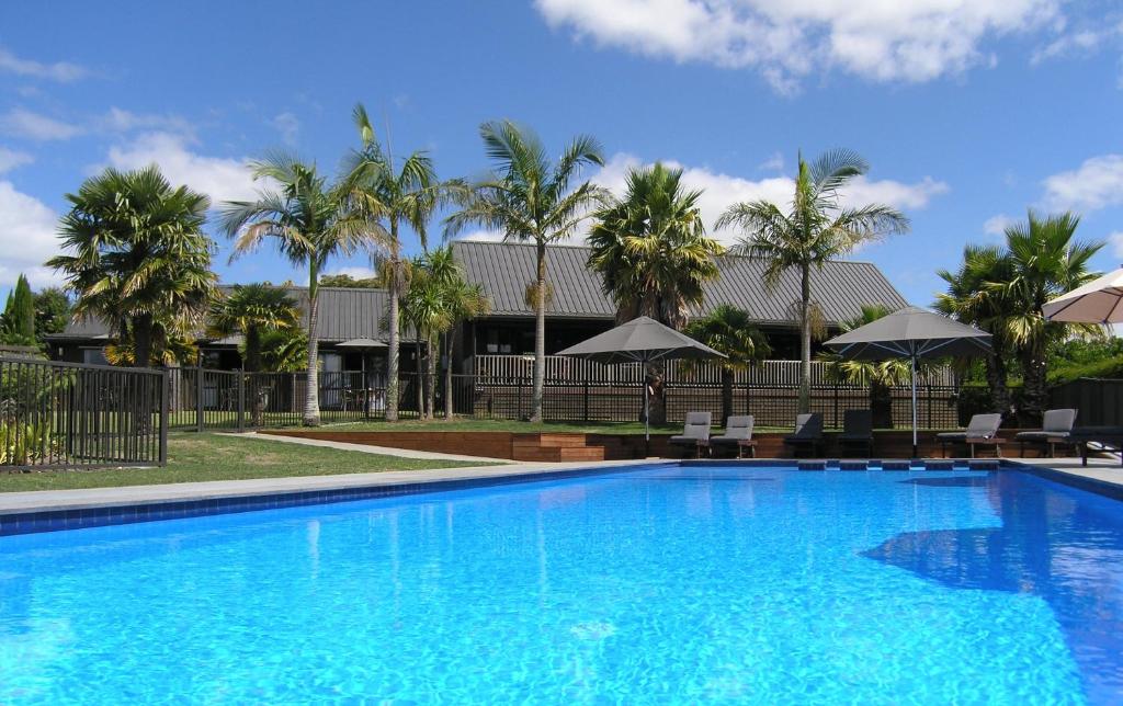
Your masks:
M 257 194 L 248 159 L 197 154 L 188 148 L 188 140 L 180 135 L 140 135 L 127 145 L 112 147 L 109 163 L 119 169 L 139 169 L 156 164 L 173 184 L 186 184 L 206 193 L 213 205 L 254 199 Z

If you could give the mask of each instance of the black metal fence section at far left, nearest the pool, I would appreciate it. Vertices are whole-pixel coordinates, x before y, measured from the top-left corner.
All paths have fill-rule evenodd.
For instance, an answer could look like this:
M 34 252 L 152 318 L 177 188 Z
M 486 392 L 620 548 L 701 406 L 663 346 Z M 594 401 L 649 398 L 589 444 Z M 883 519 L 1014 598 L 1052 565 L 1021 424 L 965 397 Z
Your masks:
M 163 466 L 162 370 L 0 358 L 0 468 Z

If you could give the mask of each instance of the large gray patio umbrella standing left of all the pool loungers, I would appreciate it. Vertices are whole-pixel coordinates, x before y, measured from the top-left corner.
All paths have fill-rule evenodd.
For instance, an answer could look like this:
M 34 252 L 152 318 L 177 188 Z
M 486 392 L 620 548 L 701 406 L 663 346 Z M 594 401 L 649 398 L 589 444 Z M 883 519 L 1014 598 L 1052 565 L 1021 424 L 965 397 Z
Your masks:
M 632 319 L 628 323 L 558 351 L 557 355 L 609 365 L 725 357 L 690 336 L 679 333 L 648 317 Z M 651 439 L 647 383 L 643 384 L 643 439 Z

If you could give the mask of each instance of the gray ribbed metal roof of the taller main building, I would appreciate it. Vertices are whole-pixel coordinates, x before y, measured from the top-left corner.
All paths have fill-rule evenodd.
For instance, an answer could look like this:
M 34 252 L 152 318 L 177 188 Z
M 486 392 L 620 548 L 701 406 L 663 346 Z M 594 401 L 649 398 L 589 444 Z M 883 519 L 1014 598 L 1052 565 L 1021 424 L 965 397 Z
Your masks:
M 533 314 L 526 303 L 527 284 L 536 276 L 533 245 L 458 240 L 453 249 L 467 278 L 482 285 L 491 300 L 492 315 Z M 615 315 L 600 275 L 587 267 L 588 255 L 587 247 L 550 246 L 546 276 L 553 285 L 554 299 L 547 313 L 584 319 Z M 691 315 L 704 315 L 719 304 L 733 304 L 749 312 L 757 323 L 791 324 L 792 305 L 800 299 L 798 273 L 785 272 L 779 283 L 769 288 L 764 283 L 766 266 L 765 260 L 754 257 L 720 258 L 721 276 L 705 285 L 702 306 Z M 862 304 L 882 304 L 889 311 L 909 305 L 871 263 L 825 263 L 821 269 L 811 271 L 811 293 L 832 326 L 861 313 Z

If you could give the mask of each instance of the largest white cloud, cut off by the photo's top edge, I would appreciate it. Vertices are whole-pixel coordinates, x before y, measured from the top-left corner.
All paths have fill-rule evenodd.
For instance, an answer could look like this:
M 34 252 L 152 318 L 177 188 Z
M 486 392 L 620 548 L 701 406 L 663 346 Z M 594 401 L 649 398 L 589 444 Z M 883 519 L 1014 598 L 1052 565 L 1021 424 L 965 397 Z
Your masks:
M 638 54 L 751 67 L 782 92 L 821 68 L 930 81 L 995 37 L 1059 24 L 1060 0 L 536 0 L 555 27 Z

